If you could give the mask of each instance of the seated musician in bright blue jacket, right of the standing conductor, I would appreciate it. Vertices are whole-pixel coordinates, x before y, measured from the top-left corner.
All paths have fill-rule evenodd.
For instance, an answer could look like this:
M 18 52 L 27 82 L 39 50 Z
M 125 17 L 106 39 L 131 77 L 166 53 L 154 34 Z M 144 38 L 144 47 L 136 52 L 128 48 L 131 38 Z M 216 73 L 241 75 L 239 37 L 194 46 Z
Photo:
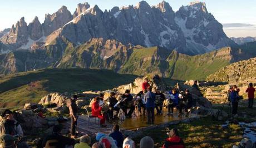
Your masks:
M 171 104 L 168 106 L 168 115 L 173 115 L 173 110 L 174 110 L 174 107 L 178 107 L 179 105 L 179 93 L 173 89 L 173 91 L 171 91 L 170 93 L 170 96 L 171 96 Z M 179 107 L 179 115 L 182 114 L 182 106 Z

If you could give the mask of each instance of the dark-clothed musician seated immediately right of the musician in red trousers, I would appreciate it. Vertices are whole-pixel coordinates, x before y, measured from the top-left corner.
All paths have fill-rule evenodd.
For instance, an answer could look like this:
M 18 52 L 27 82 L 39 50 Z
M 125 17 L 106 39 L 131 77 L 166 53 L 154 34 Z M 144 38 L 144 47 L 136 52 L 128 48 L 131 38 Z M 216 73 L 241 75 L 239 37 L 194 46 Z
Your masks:
M 114 107 L 116 105 L 116 103 L 118 102 L 115 95 L 116 95 L 115 92 L 110 92 L 110 97 L 107 98 L 107 102 L 109 102 L 109 106 L 110 106 L 109 117 L 111 120 L 116 119 L 116 117 L 118 115 L 118 114 L 114 115 L 114 111 L 117 111 L 117 113 L 118 113 L 120 110 L 119 107 Z

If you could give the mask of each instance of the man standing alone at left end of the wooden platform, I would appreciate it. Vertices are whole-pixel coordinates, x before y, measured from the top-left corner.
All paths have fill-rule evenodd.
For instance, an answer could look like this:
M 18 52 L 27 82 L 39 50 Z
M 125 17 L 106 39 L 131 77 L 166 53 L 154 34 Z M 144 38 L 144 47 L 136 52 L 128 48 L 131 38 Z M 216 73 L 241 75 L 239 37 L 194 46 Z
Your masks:
M 69 100 L 67 100 L 67 107 L 70 110 L 71 117 L 71 138 L 76 138 L 76 126 L 77 126 L 77 117 L 78 117 L 78 106 L 76 104 L 77 95 L 73 95 Z

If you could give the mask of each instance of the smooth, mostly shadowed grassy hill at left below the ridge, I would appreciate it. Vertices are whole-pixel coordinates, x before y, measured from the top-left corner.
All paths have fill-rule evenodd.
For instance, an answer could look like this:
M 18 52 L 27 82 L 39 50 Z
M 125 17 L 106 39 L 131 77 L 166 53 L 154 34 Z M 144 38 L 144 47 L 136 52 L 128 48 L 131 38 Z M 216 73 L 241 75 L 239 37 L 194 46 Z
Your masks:
M 49 92 L 107 90 L 134 81 L 137 76 L 107 70 L 46 69 L 0 77 L 0 107 L 38 102 Z

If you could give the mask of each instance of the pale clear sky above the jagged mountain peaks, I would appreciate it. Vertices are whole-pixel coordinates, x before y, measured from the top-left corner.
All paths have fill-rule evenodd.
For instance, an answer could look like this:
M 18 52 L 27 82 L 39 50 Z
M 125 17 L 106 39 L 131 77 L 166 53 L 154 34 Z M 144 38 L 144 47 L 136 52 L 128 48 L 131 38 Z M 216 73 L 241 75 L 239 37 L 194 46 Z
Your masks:
M 148 0 L 155 5 L 162 0 Z M 25 17 L 27 24 L 38 16 L 42 23 L 46 13 L 56 12 L 61 6 L 67 6 L 73 13 L 78 3 L 88 2 L 97 4 L 102 11 L 114 6 L 136 5 L 139 0 L 0 0 L 0 30 L 11 27 L 19 18 Z M 177 11 L 180 6 L 189 4 L 189 0 L 166 0 Z M 208 12 L 211 12 L 220 23 L 252 23 L 256 24 L 255 0 L 202 0 L 206 3 Z

